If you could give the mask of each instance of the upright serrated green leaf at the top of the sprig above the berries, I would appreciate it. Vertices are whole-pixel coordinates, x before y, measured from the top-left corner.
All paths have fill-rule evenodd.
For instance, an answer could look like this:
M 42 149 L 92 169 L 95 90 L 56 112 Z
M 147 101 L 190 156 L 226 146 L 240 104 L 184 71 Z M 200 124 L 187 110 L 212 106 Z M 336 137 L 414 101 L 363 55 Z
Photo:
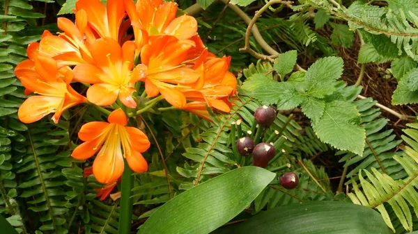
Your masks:
M 343 59 L 338 57 L 320 58 L 309 67 L 304 80 L 309 96 L 323 98 L 334 92 L 334 82 L 343 74 Z

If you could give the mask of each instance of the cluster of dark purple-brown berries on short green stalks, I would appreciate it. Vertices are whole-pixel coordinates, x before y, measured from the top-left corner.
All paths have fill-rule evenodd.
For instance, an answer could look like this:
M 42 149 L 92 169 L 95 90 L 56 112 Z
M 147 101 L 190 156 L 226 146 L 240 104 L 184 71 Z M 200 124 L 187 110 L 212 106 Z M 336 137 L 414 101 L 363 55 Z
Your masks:
M 249 136 L 251 136 L 251 133 L 256 131 L 254 140 L 249 136 L 243 136 L 240 137 L 233 146 L 235 151 L 239 153 L 240 156 L 249 156 L 252 154 L 252 164 L 256 167 L 267 167 L 269 162 L 276 156 L 274 143 L 270 142 L 270 140 L 274 139 L 274 135 L 273 137 L 270 137 L 267 142 L 259 142 L 263 139 L 262 135 L 265 128 L 270 127 L 270 125 L 274 122 L 274 119 L 276 119 L 276 111 L 274 108 L 269 106 L 261 106 L 257 108 L 254 112 L 255 122 L 251 127 L 251 130 L 247 131 Z M 257 128 L 257 130 L 255 128 Z M 279 132 L 275 131 L 275 133 L 276 135 L 279 135 Z M 286 137 L 283 138 L 286 139 Z M 278 156 L 280 155 L 281 154 Z M 279 167 L 278 169 L 287 169 L 289 166 L 290 165 L 286 165 L 285 167 Z M 294 172 L 289 172 L 281 176 L 279 181 L 284 188 L 292 190 L 297 187 L 299 178 Z

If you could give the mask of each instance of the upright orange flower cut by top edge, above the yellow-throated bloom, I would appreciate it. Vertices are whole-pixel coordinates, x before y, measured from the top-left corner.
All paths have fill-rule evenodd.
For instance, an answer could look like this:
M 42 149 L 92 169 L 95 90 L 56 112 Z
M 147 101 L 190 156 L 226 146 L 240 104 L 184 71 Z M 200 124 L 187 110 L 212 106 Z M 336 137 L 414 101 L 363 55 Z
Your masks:
M 120 41 L 121 24 L 125 17 L 122 0 L 107 0 L 107 6 L 99 0 L 79 0 L 75 3 L 75 12 L 77 14 L 80 11 L 85 12 L 88 26 L 98 37 L 111 37 Z

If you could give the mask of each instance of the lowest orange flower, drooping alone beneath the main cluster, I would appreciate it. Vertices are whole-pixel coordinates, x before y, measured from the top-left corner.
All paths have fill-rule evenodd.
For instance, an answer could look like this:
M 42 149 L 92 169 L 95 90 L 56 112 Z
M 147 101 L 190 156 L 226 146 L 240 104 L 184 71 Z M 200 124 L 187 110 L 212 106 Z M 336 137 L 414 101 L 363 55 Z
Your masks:
M 89 122 L 78 136 L 84 143 L 72 152 L 72 157 L 86 160 L 98 153 L 93 162 L 93 174 L 100 183 L 111 183 L 121 177 L 125 168 L 123 158 L 134 172 L 146 172 L 148 164 L 142 152 L 150 147 L 148 137 L 138 128 L 125 126 L 123 110 L 111 112 L 107 122 Z M 123 152 L 122 152 L 123 150 Z

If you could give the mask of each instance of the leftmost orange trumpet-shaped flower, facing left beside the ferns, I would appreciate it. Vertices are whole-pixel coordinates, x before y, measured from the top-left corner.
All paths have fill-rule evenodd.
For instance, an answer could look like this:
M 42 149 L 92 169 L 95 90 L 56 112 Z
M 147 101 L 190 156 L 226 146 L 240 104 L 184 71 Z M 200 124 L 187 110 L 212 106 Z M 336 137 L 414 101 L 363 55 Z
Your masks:
M 26 87 L 26 94 L 38 94 L 26 99 L 17 112 L 20 121 L 26 124 L 36 122 L 52 112 L 55 112 L 52 120 L 58 123 L 65 110 L 87 101 L 70 86 L 70 69 L 59 70 L 52 58 L 24 60 L 15 68 L 15 74 Z

